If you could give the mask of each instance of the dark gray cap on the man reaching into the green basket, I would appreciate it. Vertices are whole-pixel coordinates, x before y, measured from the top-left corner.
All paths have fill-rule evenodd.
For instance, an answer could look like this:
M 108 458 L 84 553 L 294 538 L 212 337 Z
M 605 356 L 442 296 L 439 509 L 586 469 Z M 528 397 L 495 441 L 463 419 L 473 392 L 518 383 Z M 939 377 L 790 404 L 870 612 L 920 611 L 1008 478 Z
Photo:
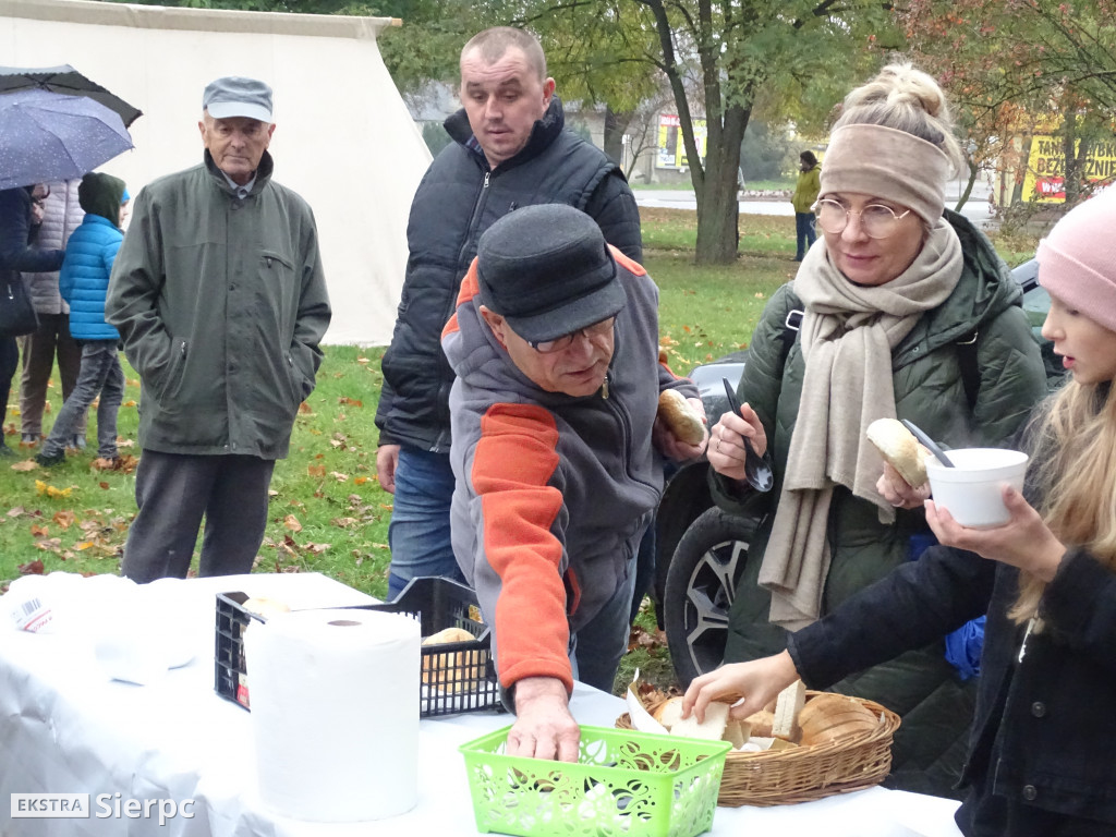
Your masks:
M 531 343 L 616 316 L 627 302 L 596 221 L 564 203 L 523 206 L 481 235 L 481 302 Z

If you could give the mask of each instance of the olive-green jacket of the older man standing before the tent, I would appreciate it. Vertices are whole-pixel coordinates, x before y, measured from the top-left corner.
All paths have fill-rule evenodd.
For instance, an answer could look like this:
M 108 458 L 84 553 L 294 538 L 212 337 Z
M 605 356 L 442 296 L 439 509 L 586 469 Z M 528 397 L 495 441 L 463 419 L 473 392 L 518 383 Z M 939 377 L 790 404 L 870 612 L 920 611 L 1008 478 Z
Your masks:
M 287 455 L 329 298 L 314 214 L 272 167 L 239 199 L 205 152 L 136 196 L 105 317 L 140 373 L 144 450 Z

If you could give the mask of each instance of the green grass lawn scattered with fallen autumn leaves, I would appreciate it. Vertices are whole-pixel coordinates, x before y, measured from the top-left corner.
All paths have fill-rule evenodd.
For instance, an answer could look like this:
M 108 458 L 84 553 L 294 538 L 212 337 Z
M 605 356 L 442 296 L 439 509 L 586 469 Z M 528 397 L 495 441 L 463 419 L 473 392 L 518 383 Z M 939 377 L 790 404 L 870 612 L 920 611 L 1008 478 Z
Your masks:
M 694 212 L 644 209 L 641 215 L 646 267 L 660 287 L 662 345 L 672 368 L 684 374 L 745 347 L 771 292 L 793 278 L 792 219 L 741 215 L 737 263 L 696 267 Z M 1037 239 L 995 243 L 1014 266 L 1033 254 Z M 317 571 L 373 596 L 386 595 L 392 496 L 376 480 L 373 424 L 382 355 L 378 348 L 326 348 L 317 388 L 296 421 L 290 455 L 276 468 L 257 571 Z M 140 382 L 127 365 L 125 377 L 121 453 L 134 458 Z M 56 374 L 47 427 L 61 407 L 57 381 Z M 135 514 L 134 460 L 118 471 L 97 471 L 92 468 L 94 442 L 86 451 L 70 452 L 60 465 L 39 468 L 35 451 L 18 448 L 18 404 L 13 392 L 3 430 L 19 455 L 0 460 L 0 591 L 23 573 L 118 571 Z M 95 439 L 92 429 L 87 435 Z M 670 656 L 648 603 L 637 626 L 617 682 L 626 682 L 639 666 L 650 682 L 668 685 Z

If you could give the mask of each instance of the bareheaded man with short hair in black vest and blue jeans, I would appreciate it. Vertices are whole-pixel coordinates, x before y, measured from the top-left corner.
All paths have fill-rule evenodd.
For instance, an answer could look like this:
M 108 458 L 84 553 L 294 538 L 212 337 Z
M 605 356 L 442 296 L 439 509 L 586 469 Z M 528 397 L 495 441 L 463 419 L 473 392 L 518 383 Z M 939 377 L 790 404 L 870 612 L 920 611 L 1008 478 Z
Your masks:
M 639 213 L 623 172 L 565 129 L 546 57 L 528 32 L 488 29 L 461 50 L 461 102 L 445 121 L 454 142 L 426 171 L 407 223 L 407 260 L 376 410 L 379 483 L 395 494 L 388 541 L 394 597 L 416 576 L 461 579 L 450 542 L 450 386 L 440 337 L 477 240 L 519 206 L 566 203 L 605 239 L 643 259 Z

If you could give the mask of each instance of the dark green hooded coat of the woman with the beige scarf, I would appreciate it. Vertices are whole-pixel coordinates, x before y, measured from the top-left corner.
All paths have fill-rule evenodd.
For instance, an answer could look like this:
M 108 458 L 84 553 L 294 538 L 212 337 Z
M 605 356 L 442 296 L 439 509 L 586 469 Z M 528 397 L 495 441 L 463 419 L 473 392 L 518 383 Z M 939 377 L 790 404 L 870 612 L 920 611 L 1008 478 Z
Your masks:
M 924 315 L 895 347 L 895 407 L 899 419 L 910 419 L 951 448 L 1000 446 L 1046 395 L 1042 359 L 1020 307 L 1022 292 L 1007 267 L 965 219 L 950 212 L 946 218 L 961 238 L 963 272 L 950 298 Z M 763 498 L 772 499 L 782 487 L 805 372 L 797 343 L 782 362 L 783 323 L 788 312 L 801 308 L 791 288 L 780 288 L 764 309 L 739 388 L 741 401 L 751 404 L 767 431 L 776 484 Z M 974 333 L 980 388 L 970 406 L 956 344 Z M 758 501 L 757 496 L 738 493 L 712 470 L 710 474 L 714 499 L 725 510 L 741 512 Z M 895 525 L 885 526 L 875 506 L 841 487 L 829 513 L 831 565 L 822 615 L 917 554 L 920 539 L 930 532 L 921 509 L 899 510 Z M 786 632 L 768 623 L 770 595 L 757 586 L 772 522 L 773 514 L 768 514 L 760 525 L 737 588 L 725 648 L 729 661 L 786 647 Z M 833 687 L 878 701 L 903 715 L 893 751 L 894 787 L 949 795 L 960 776 L 975 690 L 945 662 L 943 647 L 936 643 L 910 652 Z

